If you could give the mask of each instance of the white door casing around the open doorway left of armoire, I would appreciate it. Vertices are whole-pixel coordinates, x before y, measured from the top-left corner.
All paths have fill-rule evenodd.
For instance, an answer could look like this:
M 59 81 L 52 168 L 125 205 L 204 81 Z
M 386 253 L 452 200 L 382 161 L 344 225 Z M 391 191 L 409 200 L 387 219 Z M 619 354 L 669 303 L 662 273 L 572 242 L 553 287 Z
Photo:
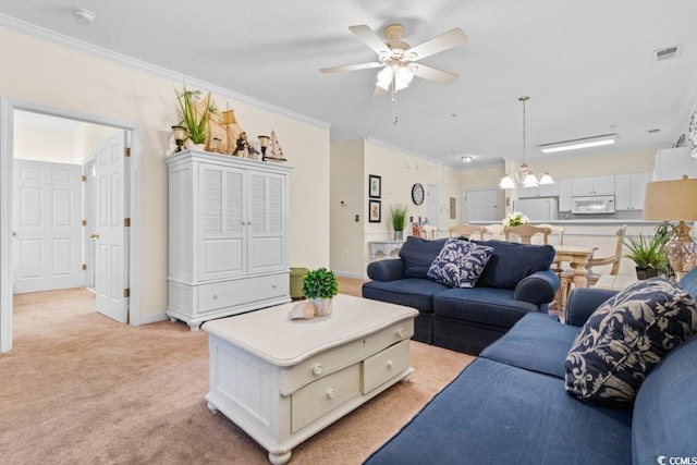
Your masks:
M 140 211 L 140 182 L 135 173 L 138 171 L 139 157 L 137 150 L 137 130 L 135 124 L 125 123 L 121 121 L 113 121 L 103 119 L 97 115 L 81 114 L 69 110 L 60 110 L 48 108 L 42 105 L 27 103 L 14 101 L 8 98 L 0 97 L 0 219 L 2 219 L 2 225 L 0 227 L 0 352 L 8 352 L 12 348 L 12 298 L 13 298 L 13 235 L 14 228 L 13 209 L 14 209 L 14 193 L 13 193 L 13 178 L 14 178 L 14 156 L 15 147 L 22 143 L 22 136 L 15 133 L 17 127 L 21 127 L 24 123 L 22 119 L 29 118 L 48 118 L 54 120 L 56 124 L 74 125 L 78 127 L 74 131 L 75 138 L 81 139 L 86 145 L 91 144 L 94 137 L 101 137 L 105 134 L 121 133 L 125 134 L 130 140 L 130 162 L 125 164 L 129 178 L 132 182 L 125 184 L 124 203 L 131 217 L 138 218 Z M 88 131 L 86 127 L 94 130 L 95 127 L 100 131 Z M 91 134 L 91 135 L 90 135 Z M 98 134 L 95 136 L 95 134 Z M 42 140 L 47 144 L 47 152 L 53 151 L 58 140 L 60 139 L 59 133 L 49 133 L 48 137 L 44 137 Z M 41 151 L 41 150 L 39 150 Z M 97 151 L 96 144 L 93 144 L 91 154 Z M 27 151 L 25 151 L 26 154 Z M 82 151 L 73 159 L 73 162 L 83 164 L 87 161 L 89 166 L 89 156 Z M 73 163 L 73 164 L 77 164 Z M 84 213 L 84 212 L 81 212 Z M 131 325 L 140 323 L 140 229 L 137 222 L 129 223 L 125 234 L 127 235 L 127 242 L 130 247 L 123 255 L 123 269 L 126 277 L 126 282 L 130 283 L 130 297 L 127 318 Z M 88 245 L 88 243 L 86 243 Z M 83 250 L 85 247 L 83 247 Z M 82 250 L 81 250 L 82 252 Z M 87 258 L 87 255 L 85 256 Z M 83 280 L 83 285 L 88 285 L 88 280 Z M 124 292 L 124 297 L 126 297 Z

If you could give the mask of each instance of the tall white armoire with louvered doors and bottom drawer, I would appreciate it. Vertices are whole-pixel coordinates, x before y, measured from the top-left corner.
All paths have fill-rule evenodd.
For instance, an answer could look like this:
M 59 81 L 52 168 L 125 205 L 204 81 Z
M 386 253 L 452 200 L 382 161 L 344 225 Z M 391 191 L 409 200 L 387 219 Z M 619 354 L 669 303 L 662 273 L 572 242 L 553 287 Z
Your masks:
M 192 330 L 290 302 L 291 168 L 207 151 L 167 158 L 169 303 Z

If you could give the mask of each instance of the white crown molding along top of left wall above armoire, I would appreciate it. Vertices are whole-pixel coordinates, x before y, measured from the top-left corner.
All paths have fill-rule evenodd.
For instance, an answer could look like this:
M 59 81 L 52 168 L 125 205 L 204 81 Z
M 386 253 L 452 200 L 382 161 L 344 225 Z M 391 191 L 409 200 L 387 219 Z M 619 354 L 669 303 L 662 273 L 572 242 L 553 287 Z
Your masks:
M 135 59 L 133 57 L 125 56 L 123 53 L 119 53 L 112 50 L 108 50 L 102 47 L 98 47 L 94 44 L 86 42 L 84 40 L 76 39 L 74 37 L 66 36 L 64 34 L 57 33 L 54 30 L 47 29 L 41 26 L 37 26 L 35 24 L 27 23 L 25 21 L 17 20 L 12 16 L 8 16 L 4 14 L 0 14 L 0 27 L 4 27 L 7 29 L 15 30 L 22 34 L 26 34 L 28 36 L 37 37 L 42 40 L 50 41 L 52 44 L 58 44 L 64 47 L 70 47 L 75 50 L 80 50 L 87 54 L 91 54 L 94 57 L 102 58 L 106 60 L 110 60 L 122 64 L 127 68 L 132 68 L 138 71 L 144 71 L 149 74 L 154 74 L 167 79 L 176 81 L 176 82 L 186 82 L 196 87 L 203 87 L 207 90 L 210 90 L 213 94 L 218 94 L 224 98 L 229 98 L 231 100 L 237 100 L 240 102 L 253 105 L 255 107 L 259 107 L 264 110 L 268 110 L 274 113 L 279 113 L 281 115 L 292 118 L 297 121 L 302 121 L 308 124 L 313 124 L 315 126 L 319 126 L 322 129 L 329 129 L 331 126 L 330 123 L 326 121 L 321 121 L 306 114 L 297 113 L 293 110 L 289 110 L 288 108 L 278 107 L 272 103 L 258 100 L 254 97 L 249 97 L 243 94 L 239 94 L 234 90 L 207 83 L 205 81 L 198 79 L 196 77 L 187 76 L 185 74 L 179 73 L 176 71 L 168 70 L 167 68 L 158 66 L 152 63 L 148 63 L 143 60 Z

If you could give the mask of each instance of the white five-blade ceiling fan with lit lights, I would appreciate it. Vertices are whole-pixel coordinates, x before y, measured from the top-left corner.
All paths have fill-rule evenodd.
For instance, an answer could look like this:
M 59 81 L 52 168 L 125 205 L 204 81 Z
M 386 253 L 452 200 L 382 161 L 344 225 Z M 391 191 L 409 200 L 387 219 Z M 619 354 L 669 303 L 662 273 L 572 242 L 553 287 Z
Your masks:
M 321 68 L 320 71 L 322 73 L 382 68 L 383 70 L 378 73 L 374 94 L 376 96 L 386 94 L 390 88 L 392 94 L 396 95 L 398 90 L 402 90 L 409 85 L 414 76 L 443 85 L 448 85 L 457 78 L 457 74 L 417 63 L 417 61 L 467 42 L 467 35 L 460 27 L 455 27 L 415 47 L 402 41 L 404 26 L 401 24 L 390 24 L 382 29 L 387 41 L 382 41 L 366 25 L 350 26 L 348 29 L 378 53 L 378 61 Z

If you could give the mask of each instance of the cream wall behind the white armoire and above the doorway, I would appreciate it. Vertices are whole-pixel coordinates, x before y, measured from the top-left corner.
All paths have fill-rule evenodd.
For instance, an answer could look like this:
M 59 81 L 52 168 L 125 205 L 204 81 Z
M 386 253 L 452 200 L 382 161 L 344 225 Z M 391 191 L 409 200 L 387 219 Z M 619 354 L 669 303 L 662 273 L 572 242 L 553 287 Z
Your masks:
M 150 72 L 129 64 L 0 28 L 0 93 L 28 102 L 71 112 L 130 122 L 139 130 L 143 186 L 142 302 L 144 319 L 167 307 L 167 167 L 168 135 L 179 117 L 174 88 L 184 78 L 189 88 L 208 89 L 193 78 Z M 30 57 L 30 59 L 27 59 Z M 156 70 L 157 71 L 157 70 Z M 168 77 L 171 76 L 171 77 Z M 294 118 L 270 106 L 248 103 L 224 89 L 215 89 L 220 107 L 230 103 L 249 134 L 278 135 L 291 175 L 290 261 L 329 266 L 329 129 L 310 119 Z M 2 258 L 4 260 L 4 257 Z M 150 318 L 151 319 L 151 318 Z

